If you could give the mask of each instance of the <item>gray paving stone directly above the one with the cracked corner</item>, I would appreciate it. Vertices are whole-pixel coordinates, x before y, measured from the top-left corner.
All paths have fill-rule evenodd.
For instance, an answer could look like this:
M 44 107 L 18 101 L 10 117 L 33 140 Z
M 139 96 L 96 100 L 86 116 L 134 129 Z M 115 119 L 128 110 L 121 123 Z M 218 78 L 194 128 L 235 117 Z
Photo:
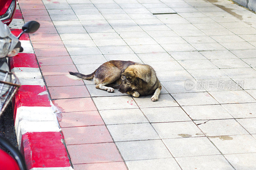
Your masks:
M 220 105 L 182 106 L 192 120 L 232 119 Z

